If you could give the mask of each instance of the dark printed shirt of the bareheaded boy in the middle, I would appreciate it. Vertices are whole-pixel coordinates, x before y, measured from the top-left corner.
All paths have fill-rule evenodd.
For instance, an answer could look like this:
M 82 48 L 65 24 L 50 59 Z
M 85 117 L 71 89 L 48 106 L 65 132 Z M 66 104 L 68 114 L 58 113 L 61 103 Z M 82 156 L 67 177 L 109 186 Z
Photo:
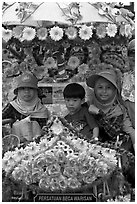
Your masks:
M 81 107 L 81 109 L 73 115 L 66 115 L 65 119 L 87 139 L 91 139 L 93 128 L 97 127 L 97 123 L 95 122 L 93 115 L 88 112 L 87 107 Z

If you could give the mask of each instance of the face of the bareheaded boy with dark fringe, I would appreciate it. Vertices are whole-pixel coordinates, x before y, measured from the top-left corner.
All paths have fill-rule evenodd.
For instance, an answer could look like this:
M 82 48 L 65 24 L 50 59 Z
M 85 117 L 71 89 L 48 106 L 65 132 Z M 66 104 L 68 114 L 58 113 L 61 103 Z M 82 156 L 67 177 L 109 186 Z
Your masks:
M 65 98 L 66 107 L 70 114 L 74 114 L 79 110 L 83 100 L 80 98 Z

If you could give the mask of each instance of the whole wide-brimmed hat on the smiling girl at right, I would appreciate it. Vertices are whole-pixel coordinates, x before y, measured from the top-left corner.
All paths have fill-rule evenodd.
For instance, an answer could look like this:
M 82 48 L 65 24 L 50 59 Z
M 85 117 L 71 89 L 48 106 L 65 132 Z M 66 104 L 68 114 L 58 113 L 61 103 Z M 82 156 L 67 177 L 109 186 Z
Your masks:
M 89 87 L 94 88 L 95 82 L 100 78 L 103 77 L 110 81 L 118 90 L 117 85 L 117 76 L 113 70 L 105 70 L 102 72 L 99 72 L 98 74 L 93 74 L 89 78 L 87 78 L 86 83 Z

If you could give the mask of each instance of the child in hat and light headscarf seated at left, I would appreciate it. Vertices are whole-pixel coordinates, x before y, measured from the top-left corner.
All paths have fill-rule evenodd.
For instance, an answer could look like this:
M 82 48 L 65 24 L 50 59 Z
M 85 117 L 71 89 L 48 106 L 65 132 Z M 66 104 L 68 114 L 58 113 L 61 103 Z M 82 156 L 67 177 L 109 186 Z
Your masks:
M 34 134 L 40 134 L 41 128 L 46 125 L 50 117 L 49 111 L 38 97 L 38 79 L 31 72 L 23 73 L 16 79 L 14 94 L 15 99 L 2 111 L 2 119 L 12 119 L 12 133 L 18 134 L 21 142 L 31 141 L 33 135 L 30 136 L 29 132 L 25 133 L 29 131 L 26 124 L 29 125 L 30 121 L 35 121 Z M 32 130 L 30 131 L 32 133 Z

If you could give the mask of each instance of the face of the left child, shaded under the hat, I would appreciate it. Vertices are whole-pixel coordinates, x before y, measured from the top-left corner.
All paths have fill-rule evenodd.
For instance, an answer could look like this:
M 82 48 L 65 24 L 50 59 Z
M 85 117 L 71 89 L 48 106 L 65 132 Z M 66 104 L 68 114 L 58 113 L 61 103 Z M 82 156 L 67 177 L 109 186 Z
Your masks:
M 25 102 L 31 102 L 37 95 L 37 90 L 34 88 L 23 87 L 18 89 L 18 97 Z

